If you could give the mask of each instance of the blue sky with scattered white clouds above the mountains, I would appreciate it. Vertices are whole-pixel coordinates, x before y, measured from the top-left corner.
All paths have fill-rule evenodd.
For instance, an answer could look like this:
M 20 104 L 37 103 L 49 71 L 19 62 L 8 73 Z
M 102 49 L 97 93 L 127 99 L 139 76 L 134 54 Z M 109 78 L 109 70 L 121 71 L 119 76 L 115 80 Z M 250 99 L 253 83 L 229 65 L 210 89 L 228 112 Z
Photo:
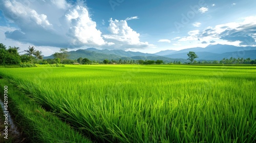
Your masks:
M 0 43 L 157 53 L 209 44 L 256 46 L 254 0 L 0 0 Z

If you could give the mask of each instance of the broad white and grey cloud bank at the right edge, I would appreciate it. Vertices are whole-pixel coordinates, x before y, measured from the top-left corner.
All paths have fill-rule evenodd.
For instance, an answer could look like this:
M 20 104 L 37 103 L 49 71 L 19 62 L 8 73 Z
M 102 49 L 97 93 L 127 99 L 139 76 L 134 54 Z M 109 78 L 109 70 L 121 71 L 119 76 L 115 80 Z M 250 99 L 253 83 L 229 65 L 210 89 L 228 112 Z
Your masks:
M 203 46 L 204 43 L 219 43 L 236 46 L 256 45 L 256 16 L 244 17 L 239 22 L 229 22 L 204 30 L 189 31 L 188 36 L 177 39 L 190 46 Z M 200 40 L 198 40 L 200 39 Z M 203 42 L 202 42 L 203 41 Z M 176 41 L 174 41 L 176 42 Z

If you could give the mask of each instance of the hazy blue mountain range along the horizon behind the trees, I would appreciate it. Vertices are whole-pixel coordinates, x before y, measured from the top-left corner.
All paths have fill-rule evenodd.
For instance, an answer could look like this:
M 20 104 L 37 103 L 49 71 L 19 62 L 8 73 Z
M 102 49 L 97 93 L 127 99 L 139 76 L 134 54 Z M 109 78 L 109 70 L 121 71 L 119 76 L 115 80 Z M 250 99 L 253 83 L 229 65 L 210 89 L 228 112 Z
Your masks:
M 221 60 L 223 58 L 250 58 L 256 59 L 256 47 L 255 46 L 233 46 L 233 45 L 208 45 L 203 47 L 193 47 L 189 49 L 183 49 L 180 51 L 166 50 L 160 51 L 155 54 L 131 52 L 123 50 L 98 50 L 90 47 L 85 50 L 70 51 L 69 59 L 78 59 L 79 57 L 88 58 L 95 61 L 103 61 L 104 59 L 113 60 L 163 60 L 164 62 L 173 61 L 187 61 L 187 53 L 193 51 L 199 58 L 196 60 Z M 52 59 L 53 56 L 44 57 L 44 59 Z

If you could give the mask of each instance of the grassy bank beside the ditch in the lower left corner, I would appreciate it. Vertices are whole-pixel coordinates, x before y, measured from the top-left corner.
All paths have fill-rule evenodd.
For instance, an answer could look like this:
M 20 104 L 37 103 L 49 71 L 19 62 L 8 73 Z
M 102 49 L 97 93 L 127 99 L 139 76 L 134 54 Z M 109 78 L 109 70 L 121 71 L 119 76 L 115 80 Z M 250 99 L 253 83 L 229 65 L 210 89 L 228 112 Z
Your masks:
M 8 90 L 8 111 L 15 118 L 15 123 L 21 133 L 26 136 L 17 138 L 16 135 L 8 132 L 8 139 L 4 139 L 1 136 L 3 141 L 0 139 L 0 142 L 92 142 L 81 133 L 75 131 L 66 122 L 59 120 L 54 113 L 46 111 L 36 104 L 33 99 L 16 88 L 17 84 L 13 85 L 6 80 L 0 79 L 1 91 L 4 91 L 4 86 L 8 86 L 11 89 Z M 1 98 L 4 98 L 3 93 L 0 93 Z M 14 141 L 12 138 L 17 140 Z

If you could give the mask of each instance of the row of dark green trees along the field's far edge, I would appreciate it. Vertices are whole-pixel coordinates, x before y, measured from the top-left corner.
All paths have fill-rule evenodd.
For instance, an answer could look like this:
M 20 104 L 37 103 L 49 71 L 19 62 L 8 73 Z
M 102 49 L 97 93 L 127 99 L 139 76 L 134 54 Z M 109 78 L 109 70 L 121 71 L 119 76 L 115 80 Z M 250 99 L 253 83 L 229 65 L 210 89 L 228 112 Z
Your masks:
M 68 49 L 61 48 L 59 52 L 54 53 L 52 56 L 54 59 L 43 59 L 41 51 L 35 50 L 34 46 L 29 46 L 28 50 L 19 52 L 20 48 L 16 46 L 9 46 L 8 48 L 0 43 L 0 65 L 20 65 L 20 64 L 182 64 L 180 61 L 173 61 L 166 63 L 163 60 L 109 60 L 103 61 L 91 61 L 88 58 L 78 58 L 76 60 L 69 59 Z M 21 54 L 25 53 L 25 54 Z M 256 64 L 256 60 L 250 58 L 223 58 L 220 61 L 196 61 L 198 58 L 195 52 L 189 52 L 187 54 L 190 64 Z M 187 63 L 184 63 L 187 64 Z

